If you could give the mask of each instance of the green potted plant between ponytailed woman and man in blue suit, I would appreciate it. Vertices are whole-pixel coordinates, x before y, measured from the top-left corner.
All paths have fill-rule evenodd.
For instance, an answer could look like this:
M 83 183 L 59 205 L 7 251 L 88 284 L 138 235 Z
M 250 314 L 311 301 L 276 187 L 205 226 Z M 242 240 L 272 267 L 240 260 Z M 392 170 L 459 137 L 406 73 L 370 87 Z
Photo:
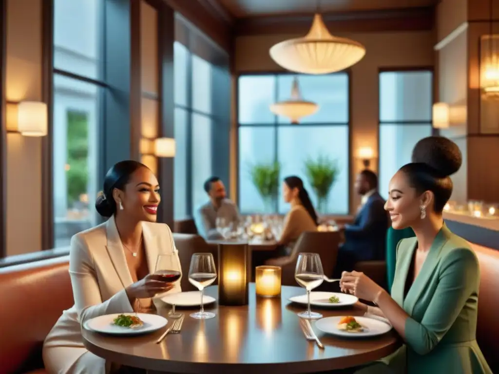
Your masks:
M 319 155 L 316 160 L 308 158 L 305 161 L 305 174 L 308 183 L 317 197 L 317 210 L 326 213 L 329 192 L 338 179 L 339 167 L 336 160 Z

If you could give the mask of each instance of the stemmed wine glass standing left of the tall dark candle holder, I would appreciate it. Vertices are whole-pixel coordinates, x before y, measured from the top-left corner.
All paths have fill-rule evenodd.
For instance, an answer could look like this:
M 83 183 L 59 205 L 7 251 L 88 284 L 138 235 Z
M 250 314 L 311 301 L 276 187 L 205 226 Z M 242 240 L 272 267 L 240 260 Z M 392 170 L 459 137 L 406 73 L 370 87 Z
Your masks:
M 205 287 L 211 285 L 217 279 L 215 261 L 211 253 L 194 253 L 189 268 L 189 282 L 201 291 L 201 310 L 191 314 L 192 318 L 206 320 L 215 317 L 215 313 L 205 312 L 203 296 Z

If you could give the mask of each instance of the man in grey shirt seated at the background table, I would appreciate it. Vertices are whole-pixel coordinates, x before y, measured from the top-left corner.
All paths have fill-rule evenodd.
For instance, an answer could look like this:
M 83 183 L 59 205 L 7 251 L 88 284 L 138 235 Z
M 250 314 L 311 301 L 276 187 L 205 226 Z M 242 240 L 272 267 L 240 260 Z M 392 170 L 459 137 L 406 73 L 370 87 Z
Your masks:
M 236 204 L 227 198 L 224 183 L 218 177 L 211 177 L 205 182 L 205 191 L 210 201 L 199 207 L 194 214 L 198 233 L 206 240 L 223 239 L 217 231 L 217 218 L 224 218 L 226 224 L 239 222 Z

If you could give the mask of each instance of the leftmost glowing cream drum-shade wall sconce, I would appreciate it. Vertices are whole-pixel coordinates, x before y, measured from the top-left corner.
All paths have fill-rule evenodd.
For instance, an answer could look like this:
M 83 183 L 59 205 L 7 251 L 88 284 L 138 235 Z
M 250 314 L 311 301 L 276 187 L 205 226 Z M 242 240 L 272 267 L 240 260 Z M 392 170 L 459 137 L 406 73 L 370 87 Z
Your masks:
M 7 132 L 22 136 L 41 137 L 47 135 L 47 104 L 40 101 L 7 102 Z

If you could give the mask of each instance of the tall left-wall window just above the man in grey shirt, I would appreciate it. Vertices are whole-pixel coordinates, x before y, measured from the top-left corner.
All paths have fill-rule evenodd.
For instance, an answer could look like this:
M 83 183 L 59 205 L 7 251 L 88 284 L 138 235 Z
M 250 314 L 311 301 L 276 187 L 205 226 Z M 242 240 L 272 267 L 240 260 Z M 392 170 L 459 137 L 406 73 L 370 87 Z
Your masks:
M 175 219 L 184 219 L 207 200 L 203 184 L 212 175 L 212 69 L 208 61 L 174 44 Z

